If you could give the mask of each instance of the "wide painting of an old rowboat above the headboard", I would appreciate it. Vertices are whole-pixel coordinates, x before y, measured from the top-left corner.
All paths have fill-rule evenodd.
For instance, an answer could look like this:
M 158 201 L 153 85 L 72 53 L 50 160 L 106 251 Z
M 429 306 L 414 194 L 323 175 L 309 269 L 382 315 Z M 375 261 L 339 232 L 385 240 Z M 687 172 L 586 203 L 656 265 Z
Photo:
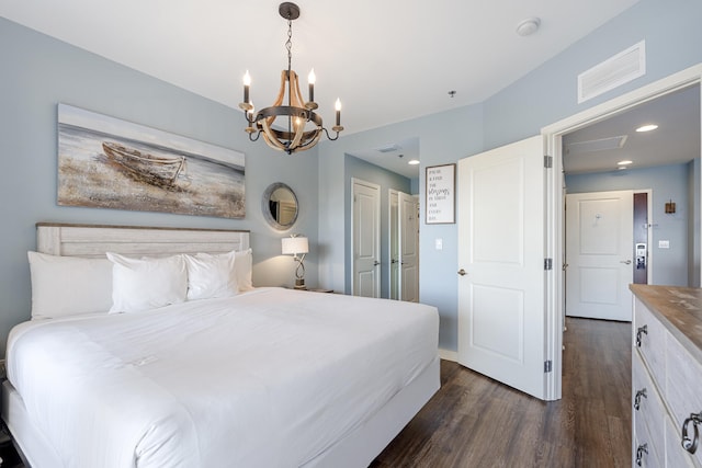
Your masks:
M 58 204 L 244 218 L 245 156 L 58 104 Z

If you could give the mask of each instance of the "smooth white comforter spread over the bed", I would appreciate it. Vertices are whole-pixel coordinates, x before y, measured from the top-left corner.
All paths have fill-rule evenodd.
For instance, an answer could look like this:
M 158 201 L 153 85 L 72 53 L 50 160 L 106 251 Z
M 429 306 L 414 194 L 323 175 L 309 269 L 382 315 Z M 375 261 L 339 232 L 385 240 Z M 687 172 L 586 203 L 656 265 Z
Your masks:
M 66 467 L 296 467 L 435 357 L 429 306 L 259 288 L 18 326 L 8 377 Z

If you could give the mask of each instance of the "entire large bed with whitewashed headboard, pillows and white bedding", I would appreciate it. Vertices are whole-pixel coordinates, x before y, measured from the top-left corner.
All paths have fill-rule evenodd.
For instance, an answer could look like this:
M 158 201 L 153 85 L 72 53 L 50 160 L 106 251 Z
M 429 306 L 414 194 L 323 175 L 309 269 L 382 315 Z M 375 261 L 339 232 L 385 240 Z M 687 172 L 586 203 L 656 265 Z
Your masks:
M 35 468 L 364 467 L 440 385 L 435 308 L 253 287 L 248 231 L 39 224 L 30 263 L 2 419 Z

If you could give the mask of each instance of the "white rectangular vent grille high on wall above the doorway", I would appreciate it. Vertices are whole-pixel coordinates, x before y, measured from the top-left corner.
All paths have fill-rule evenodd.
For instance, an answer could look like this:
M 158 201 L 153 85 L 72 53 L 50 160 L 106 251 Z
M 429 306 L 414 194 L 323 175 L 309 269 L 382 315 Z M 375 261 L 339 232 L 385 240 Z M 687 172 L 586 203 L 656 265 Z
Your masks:
M 578 75 L 578 103 L 646 75 L 646 42 L 627 48 Z

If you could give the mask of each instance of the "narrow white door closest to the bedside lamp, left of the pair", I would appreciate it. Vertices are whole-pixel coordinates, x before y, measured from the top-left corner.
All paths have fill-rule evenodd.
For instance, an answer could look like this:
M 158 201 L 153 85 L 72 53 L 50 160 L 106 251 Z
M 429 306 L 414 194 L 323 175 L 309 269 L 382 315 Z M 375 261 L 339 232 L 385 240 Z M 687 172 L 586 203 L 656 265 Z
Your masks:
M 381 187 L 352 180 L 352 290 L 354 296 L 381 296 Z

